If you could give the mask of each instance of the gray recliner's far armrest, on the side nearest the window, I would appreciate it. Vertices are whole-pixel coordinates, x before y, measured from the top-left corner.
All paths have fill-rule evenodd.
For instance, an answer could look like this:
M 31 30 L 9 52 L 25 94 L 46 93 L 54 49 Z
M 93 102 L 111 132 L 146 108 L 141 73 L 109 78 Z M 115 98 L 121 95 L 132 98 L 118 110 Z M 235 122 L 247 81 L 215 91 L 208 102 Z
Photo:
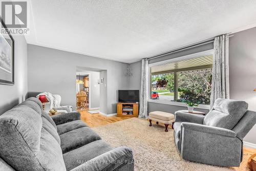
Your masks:
M 175 112 L 175 122 L 191 122 L 203 124 L 204 116 L 177 111 Z

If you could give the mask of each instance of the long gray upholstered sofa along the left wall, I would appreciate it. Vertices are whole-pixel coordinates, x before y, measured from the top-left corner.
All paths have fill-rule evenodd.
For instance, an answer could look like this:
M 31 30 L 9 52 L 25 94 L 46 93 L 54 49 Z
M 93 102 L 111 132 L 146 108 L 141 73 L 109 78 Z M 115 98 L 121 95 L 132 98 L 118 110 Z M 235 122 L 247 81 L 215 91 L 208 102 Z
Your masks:
M 0 116 L 0 170 L 134 170 L 131 148 L 112 148 L 77 112 L 50 117 L 31 97 Z

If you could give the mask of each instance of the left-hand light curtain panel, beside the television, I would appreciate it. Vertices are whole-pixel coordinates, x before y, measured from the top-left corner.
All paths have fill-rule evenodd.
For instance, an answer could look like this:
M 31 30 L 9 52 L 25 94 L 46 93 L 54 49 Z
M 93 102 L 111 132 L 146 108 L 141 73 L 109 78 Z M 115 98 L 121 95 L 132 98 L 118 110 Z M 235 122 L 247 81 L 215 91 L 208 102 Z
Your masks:
M 140 87 L 140 112 L 139 118 L 147 119 L 147 98 L 148 98 L 148 59 L 141 61 L 141 87 Z

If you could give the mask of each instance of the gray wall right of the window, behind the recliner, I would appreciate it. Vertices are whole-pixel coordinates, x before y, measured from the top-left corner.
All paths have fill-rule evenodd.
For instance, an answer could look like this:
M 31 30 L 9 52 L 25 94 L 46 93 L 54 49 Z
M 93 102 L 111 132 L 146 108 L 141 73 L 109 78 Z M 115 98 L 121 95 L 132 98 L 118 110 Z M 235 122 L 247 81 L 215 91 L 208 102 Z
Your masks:
M 230 98 L 244 100 L 256 111 L 256 27 L 235 33 L 229 38 Z M 256 126 L 245 141 L 256 144 Z

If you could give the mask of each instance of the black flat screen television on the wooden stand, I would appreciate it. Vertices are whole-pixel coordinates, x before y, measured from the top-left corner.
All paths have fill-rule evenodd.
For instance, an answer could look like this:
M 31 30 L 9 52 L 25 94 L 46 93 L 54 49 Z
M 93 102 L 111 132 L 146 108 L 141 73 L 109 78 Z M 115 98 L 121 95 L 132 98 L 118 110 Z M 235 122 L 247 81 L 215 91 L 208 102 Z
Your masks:
M 118 90 L 118 102 L 139 102 L 139 90 Z

